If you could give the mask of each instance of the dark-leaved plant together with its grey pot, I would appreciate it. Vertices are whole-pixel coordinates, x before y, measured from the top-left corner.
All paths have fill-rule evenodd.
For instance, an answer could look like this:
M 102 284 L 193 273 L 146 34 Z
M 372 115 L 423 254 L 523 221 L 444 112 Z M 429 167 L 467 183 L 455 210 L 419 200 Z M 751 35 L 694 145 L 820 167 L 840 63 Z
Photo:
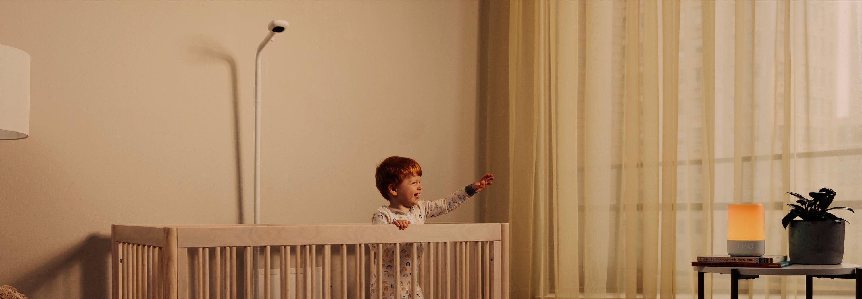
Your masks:
M 787 204 L 790 206 L 790 213 L 781 220 L 784 228 L 790 226 L 788 240 L 790 260 L 793 264 L 841 264 L 844 259 L 844 227 L 847 221 L 829 211 L 846 209 L 853 212 L 853 209 L 829 208 L 835 198 L 835 191 L 828 188 L 809 192 L 811 199 L 794 192 L 787 193 L 799 198 L 796 201 L 799 204 Z M 802 220 L 796 220 L 796 217 Z

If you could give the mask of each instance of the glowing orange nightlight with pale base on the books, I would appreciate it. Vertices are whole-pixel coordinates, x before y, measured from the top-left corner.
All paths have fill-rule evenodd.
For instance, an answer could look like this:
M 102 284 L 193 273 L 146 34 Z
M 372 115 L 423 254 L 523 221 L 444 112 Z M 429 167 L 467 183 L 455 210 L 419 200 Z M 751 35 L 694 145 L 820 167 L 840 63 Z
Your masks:
M 728 204 L 728 254 L 761 256 L 765 252 L 766 230 L 763 203 Z

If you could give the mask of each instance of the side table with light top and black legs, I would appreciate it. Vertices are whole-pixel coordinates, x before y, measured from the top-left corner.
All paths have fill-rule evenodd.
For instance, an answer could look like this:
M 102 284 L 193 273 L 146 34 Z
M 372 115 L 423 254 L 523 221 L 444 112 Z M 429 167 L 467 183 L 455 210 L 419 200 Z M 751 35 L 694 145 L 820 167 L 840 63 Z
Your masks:
M 862 299 L 862 266 L 839 265 L 789 265 L 784 268 L 754 267 L 706 267 L 694 266 L 697 271 L 697 298 L 703 299 L 703 273 L 730 274 L 730 298 L 739 299 L 739 280 L 753 279 L 761 275 L 805 276 L 805 298 L 812 299 L 812 278 L 856 279 L 856 299 Z

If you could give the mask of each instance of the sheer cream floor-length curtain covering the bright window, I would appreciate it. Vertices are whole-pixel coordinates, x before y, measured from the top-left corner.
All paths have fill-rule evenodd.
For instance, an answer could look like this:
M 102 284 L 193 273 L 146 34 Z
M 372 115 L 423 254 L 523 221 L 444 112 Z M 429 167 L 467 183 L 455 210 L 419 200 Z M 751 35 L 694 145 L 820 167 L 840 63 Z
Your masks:
M 481 6 L 481 166 L 501 181 L 482 217 L 512 223 L 512 298 L 691 297 L 690 262 L 727 252 L 728 203 L 765 203 L 767 254 L 787 251 L 785 191 L 829 187 L 862 207 L 862 4 Z M 858 235 L 862 218 L 842 216 Z M 844 261 L 862 264 L 855 239 Z M 750 297 L 803 290 L 740 283 Z M 708 296 L 728 291 L 707 277 Z

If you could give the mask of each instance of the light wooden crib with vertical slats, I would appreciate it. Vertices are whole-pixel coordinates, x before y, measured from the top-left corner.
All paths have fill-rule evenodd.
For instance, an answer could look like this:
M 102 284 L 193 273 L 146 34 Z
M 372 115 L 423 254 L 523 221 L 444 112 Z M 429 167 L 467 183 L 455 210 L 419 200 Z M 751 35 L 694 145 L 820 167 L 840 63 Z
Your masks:
M 403 287 L 426 298 L 509 299 L 508 223 L 114 225 L 111 240 L 114 299 L 376 299 L 366 245 L 382 243 L 407 243 L 419 264 Z

